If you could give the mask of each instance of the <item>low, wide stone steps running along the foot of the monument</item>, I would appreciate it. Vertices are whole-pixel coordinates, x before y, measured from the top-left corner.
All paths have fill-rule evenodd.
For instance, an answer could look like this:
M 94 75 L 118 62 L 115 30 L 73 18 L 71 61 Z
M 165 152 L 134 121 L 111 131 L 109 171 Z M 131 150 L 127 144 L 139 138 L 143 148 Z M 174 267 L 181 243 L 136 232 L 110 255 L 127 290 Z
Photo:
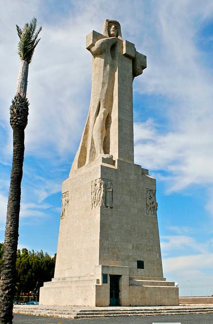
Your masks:
M 59 318 L 92 318 L 112 316 L 156 316 L 177 314 L 213 313 L 213 305 L 180 305 L 153 307 L 69 307 L 69 306 L 39 306 L 14 305 L 15 314 L 49 316 Z

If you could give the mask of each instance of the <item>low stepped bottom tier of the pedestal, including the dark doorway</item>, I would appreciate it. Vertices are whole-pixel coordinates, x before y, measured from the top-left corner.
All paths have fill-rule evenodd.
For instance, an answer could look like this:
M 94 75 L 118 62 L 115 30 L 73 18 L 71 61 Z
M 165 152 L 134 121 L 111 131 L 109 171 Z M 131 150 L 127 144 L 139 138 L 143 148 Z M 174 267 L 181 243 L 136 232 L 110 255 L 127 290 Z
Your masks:
M 128 267 L 98 266 L 102 280 L 88 277 L 53 279 L 40 288 L 39 305 L 174 306 L 178 288 L 165 278 L 129 276 Z M 104 273 L 108 273 L 104 276 Z M 98 277 L 98 275 L 96 276 Z M 117 291 L 113 289 L 118 278 Z M 114 290 L 114 291 L 113 291 Z M 117 296 L 116 296 L 117 294 Z

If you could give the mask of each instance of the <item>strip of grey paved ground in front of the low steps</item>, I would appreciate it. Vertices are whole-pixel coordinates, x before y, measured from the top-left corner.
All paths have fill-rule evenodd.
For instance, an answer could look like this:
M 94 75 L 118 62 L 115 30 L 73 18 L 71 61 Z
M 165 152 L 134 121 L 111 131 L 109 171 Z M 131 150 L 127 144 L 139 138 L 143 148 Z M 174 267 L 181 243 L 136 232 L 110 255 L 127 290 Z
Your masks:
M 105 318 L 64 319 L 14 314 L 13 324 L 213 324 L 213 314 L 160 316 L 118 316 Z

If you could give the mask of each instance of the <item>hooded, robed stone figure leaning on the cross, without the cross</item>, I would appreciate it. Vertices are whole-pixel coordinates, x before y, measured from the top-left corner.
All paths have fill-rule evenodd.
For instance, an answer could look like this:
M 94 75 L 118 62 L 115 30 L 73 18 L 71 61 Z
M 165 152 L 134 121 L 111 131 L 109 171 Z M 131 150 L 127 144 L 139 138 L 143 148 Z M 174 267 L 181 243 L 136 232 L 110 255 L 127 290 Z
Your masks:
M 89 114 L 78 151 L 72 164 L 73 169 L 94 161 L 100 154 L 109 154 L 105 148 L 105 137 L 111 123 L 115 71 L 117 69 L 118 38 L 121 37 L 119 22 L 106 19 L 102 35 L 93 47 L 92 89 Z

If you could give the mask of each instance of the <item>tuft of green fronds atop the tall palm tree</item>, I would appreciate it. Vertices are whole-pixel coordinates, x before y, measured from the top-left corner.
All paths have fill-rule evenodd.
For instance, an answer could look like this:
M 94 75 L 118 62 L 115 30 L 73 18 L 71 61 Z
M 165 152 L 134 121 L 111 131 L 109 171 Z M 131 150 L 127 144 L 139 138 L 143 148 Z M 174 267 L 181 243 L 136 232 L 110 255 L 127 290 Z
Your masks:
M 17 33 L 20 38 L 18 54 L 21 60 L 27 61 L 28 63 L 31 62 L 34 49 L 40 41 L 40 38 L 37 39 L 37 37 L 42 27 L 36 32 L 36 24 L 37 20 L 33 17 L 30 23 L 24 25 L 23 29 L 16 25 Z

